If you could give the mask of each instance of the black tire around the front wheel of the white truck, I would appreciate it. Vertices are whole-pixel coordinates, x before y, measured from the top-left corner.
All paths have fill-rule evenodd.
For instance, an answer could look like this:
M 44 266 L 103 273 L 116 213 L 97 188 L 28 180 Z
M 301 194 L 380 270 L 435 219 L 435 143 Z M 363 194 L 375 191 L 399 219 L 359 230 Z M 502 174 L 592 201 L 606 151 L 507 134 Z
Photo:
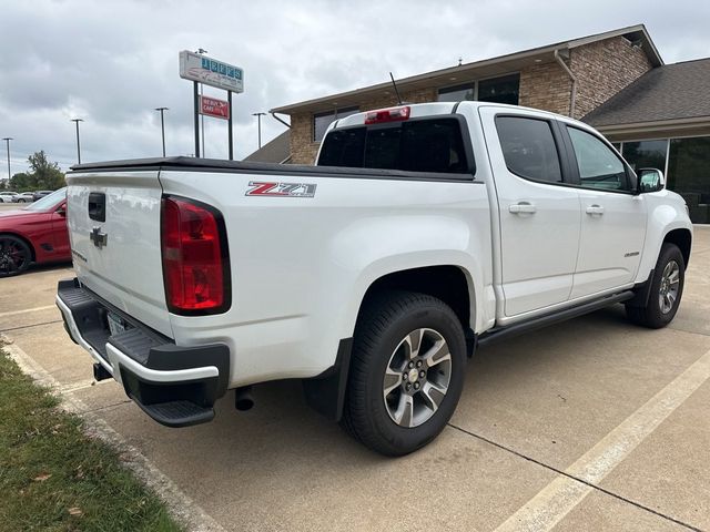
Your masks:
M 678 288 L 677 295 L 670 307 L 662 308 L 662 291 L 667 289 L 665 285 L 665 272 L 667 268 L 673 269 L 673 263 L 678 266 Z M 686 282 L 686 260 L 683 254 L 677 245 L 666 243 L 661 247 L 661 253 L 656 263 L 651 286 L 649 288 L 648 301 L 645 307 L 626 306 L 626 315 L 636 325 L 648 327 L 650 329 L 660 329 L 672 321 L 680 306 L 680 299 L 683 295 L 683 285 Z

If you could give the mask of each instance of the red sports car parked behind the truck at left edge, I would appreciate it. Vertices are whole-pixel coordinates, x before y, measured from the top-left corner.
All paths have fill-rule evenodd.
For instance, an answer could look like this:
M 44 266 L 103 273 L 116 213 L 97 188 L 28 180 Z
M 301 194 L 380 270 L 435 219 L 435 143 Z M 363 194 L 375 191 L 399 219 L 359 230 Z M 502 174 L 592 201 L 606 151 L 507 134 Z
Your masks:
M 29 207 L 0 211 L 0 277 L 21 274 L 31 263 L 61 260 L 71 260 L 67 188 Z

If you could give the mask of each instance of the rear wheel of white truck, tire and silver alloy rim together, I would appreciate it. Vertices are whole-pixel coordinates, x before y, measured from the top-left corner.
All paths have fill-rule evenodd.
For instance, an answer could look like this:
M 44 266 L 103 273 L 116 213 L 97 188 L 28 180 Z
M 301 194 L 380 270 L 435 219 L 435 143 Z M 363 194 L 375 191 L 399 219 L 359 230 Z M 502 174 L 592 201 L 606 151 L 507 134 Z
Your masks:
M 387 456 L 436 438 L 464 386 L 466 341 L 442 300 L 406 291 L 382 294 L 358 319 L 343 426 Z

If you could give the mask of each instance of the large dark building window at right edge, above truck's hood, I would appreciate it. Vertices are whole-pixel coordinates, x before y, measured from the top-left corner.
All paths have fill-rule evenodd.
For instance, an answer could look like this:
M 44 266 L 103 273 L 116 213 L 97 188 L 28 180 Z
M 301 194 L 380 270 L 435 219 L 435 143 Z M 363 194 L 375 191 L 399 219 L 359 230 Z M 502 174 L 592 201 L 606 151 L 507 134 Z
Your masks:
M 710 223 L 709 176 L 710 136 L 670 140 L 668 188 L 683 196 L 694 224 Z

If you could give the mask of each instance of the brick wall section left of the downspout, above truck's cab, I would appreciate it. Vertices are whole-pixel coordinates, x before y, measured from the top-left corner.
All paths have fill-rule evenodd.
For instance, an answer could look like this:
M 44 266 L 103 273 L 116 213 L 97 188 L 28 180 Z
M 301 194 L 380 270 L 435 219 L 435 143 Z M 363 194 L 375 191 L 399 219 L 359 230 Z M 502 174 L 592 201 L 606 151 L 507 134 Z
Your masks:
M 519 104 L 569 115 L 572 83 L 562 68 L 541 63 L 520 70 Z

